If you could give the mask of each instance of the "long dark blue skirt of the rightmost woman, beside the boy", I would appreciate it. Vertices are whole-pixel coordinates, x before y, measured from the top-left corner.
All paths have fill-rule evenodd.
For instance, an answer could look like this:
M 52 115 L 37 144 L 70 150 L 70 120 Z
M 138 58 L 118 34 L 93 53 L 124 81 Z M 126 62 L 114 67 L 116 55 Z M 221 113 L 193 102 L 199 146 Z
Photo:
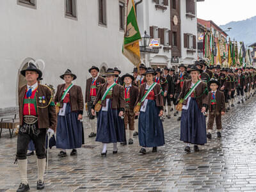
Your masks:
M 191 98 L 188 110 L 182 109 L 180 141 L 196 145 L 207 143 L 205 116 L 198 108 L 195 98 Z

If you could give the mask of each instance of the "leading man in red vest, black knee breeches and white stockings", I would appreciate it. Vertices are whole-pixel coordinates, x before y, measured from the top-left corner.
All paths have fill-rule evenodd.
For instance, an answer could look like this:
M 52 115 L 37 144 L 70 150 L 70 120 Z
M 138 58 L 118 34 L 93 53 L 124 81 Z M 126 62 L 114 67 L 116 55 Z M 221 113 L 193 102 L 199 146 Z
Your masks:
M 42 72 L 36 68 L 33 61 L 28 67 L 20 71 L 26 77 L 27 84 L 19 90 L 19 119 L 20 128 L 17 138 L 17 163 L 20 172 L 20 186 L 18 192 L 28 191 L 27 178 L 27 150 L 30 140 L 35 144 L 38 179 L 36 189 L 44 189 L 44 172 L 46 164 L 45 137 L 52 137 L 56 130 L 56 111 L 52 101 L 51 89 L 38 84 Z

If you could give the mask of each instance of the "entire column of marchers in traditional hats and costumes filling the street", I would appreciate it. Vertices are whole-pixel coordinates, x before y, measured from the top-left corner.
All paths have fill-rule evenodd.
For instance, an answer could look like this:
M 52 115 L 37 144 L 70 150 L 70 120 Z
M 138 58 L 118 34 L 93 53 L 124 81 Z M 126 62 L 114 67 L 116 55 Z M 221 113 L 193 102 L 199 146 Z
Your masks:
M 60 157 L 67 156 L 67 149 L 71 150 L 70 156 L 77 156 L 77 148 L 84 144 L 84 106 L 92 127 L 89 137 L 102 143 L 99 157 L 107 156 L 108 143 L 113 143 L 115 156 L 118 142 L 132 145 L 137 135 L 141 146 L 138 154 L 146 155 L 147 147 L 157 152 L 157 147 L 164 145 L 164 118 L 171 118 L 171 113 L 180 120 L 184 150 L 191 152 L 193 144 L 198 152 L 198 145 L 212 138 L 214 119 L 217 137 L 221 138 L 221 116 L 235 103 L 243 104 L 255 94 L 255 68 L 208 68 L 205 60 L 188 67 L 180 64 L 179 72 L 167 67 L 147 68 L 143 63 L 134 68 L 133 75 L 122 77 L 118 68 L 108 68 L 102 77 L 98 67 L 92 66 L 89 72 L 92 77 L 86 81 L 85 100 L 81 87 L 72 83 L 77 76 L 71 70 L 60 76 L 65 83 L 58 85 L 55 95 L 51 88 L 40 84 L 42 72 L 33 61 L 20 72 L 27 84 L 19 90 L 15 162 L 21 182 L 17 191 L 29 190 L 27 156 L 34 150 L 38 165 L 36 189 L 44 189 L 45 148 L 56 146 Z

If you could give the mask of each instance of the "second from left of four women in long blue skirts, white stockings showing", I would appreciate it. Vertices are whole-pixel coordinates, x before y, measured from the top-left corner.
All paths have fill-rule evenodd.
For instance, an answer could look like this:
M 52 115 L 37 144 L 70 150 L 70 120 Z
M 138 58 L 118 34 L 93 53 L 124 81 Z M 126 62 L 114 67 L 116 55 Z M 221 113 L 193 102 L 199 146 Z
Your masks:
M 99 111 L 97 120 L 96 141 L 102 142 L 102 157 L 107 155 L 108 143 L 113 143 L 113 154 L 116 154 L 117 142 L 124 142 L 124 87 L 115 83 L 116 74 L 113 68 L 108 68 L 107 82 L 102 84 L 93 102 L 92 115 Z M 100 108 L 101 106 L 101 108 Z

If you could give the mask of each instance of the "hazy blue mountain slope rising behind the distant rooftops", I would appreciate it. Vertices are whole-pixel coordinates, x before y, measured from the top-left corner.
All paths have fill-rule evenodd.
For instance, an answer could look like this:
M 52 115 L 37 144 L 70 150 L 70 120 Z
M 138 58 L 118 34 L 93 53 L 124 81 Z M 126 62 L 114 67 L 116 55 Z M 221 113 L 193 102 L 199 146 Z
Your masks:
M 244 45 L 251 45 L 256 42 L 256 16 L 246 20 L 232 21 L 220 26 L 221 29 L 227 30 L 231 27 L 227 34 L 230 40 L 237 42 L 243 41 Z

